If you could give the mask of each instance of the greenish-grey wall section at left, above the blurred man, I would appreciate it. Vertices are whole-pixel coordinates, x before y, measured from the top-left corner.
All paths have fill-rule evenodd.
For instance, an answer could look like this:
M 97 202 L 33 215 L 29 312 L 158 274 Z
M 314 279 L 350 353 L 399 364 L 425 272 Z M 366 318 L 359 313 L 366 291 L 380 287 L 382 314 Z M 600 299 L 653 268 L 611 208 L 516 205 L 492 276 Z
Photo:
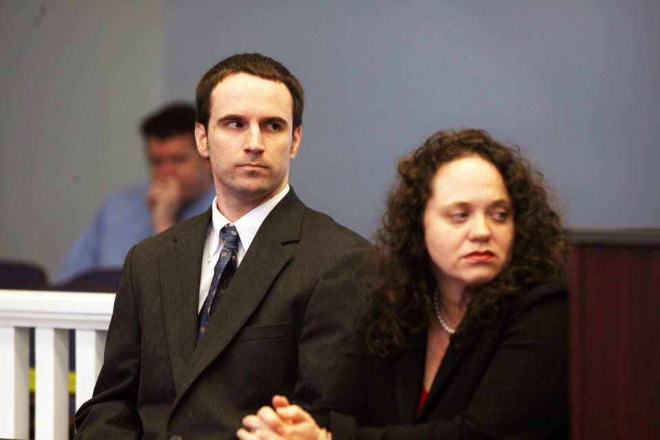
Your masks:
M 118 186 L 163 99 L 161 1 L 0 1 L 0 259 L 51 273 Z

